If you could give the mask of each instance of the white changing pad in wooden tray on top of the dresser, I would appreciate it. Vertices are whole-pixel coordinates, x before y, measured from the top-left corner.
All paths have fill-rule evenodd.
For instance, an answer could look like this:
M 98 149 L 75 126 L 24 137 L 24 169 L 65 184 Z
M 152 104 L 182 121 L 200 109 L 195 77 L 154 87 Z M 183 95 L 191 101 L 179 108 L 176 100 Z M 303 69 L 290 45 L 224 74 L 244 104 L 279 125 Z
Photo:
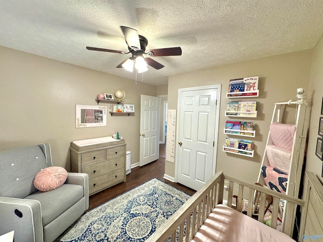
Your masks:
M 123 143 L 125 143 L 124 140 L 115 140 L 112 136 L 107 136 L 87 140 L 76 140 L 71 142 L 71 147 L 77 151 L 86 151 Z

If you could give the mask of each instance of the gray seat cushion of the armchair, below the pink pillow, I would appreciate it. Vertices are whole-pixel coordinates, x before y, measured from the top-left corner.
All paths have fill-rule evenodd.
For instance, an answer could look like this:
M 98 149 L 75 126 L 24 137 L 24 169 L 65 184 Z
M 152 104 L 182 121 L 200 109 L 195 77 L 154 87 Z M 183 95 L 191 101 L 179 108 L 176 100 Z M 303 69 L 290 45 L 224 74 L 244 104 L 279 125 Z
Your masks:
M 80 185 L 64 184 L 49 192 L 35 192 L 25 199 L 40 202 L 43 227 L 56 219 L 84 197 L 84 188 Z

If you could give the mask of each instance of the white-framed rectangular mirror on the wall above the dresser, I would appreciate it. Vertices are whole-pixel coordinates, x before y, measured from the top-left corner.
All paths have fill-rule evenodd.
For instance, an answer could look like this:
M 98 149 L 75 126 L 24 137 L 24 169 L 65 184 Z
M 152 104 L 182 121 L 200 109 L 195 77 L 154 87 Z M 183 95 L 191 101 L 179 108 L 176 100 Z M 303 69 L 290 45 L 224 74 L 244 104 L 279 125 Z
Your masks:
M 106 106 L 75 105 L 75 127 L 102 127 L 106 126 Z

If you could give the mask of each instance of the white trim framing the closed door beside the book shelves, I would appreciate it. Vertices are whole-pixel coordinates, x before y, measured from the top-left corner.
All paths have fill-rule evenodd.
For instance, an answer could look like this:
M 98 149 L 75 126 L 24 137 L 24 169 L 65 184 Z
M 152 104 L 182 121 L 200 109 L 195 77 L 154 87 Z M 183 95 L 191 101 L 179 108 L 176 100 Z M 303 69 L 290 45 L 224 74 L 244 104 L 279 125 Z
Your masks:
M 189 87 L 189 88 L 180 88 L 178 89 L 177 97 L 177 108 L 180 107 L 180 97 L 181 92 L 184 91 L 197 91 L 205 89 L 218 89 L 217 92 L 217 105 L 216 105 L 216 125 L 214 127 L 214 148 L 213 148 L 213 163 L 212 163 L 212 175 L 216 173 L 217 166 L 217 154 L 218 154 L 218 137 L 219 137 L 219 122 L 220 122 L 220 100 L 221 100 L 221 84 L 210 85 L 210 86 L 200 86 L 200 87 Z M 179 122 L 180 111 L 177 110 L 176 123 Z M 177 127 L 177 126 L 176 126 Z M 175 138 L 175 183 L 177 183 L 177 170 L 178 170 L 178 137 L 179 137 L 179 128 L 176 128 L 176 138 Z

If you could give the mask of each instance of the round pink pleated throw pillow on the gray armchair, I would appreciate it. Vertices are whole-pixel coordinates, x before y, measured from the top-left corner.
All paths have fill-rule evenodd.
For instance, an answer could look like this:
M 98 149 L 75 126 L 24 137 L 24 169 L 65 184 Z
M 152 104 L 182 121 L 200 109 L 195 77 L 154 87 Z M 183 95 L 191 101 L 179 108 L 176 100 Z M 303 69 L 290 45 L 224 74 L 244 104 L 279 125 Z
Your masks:
M 61 187 L 67 179 L 67 171 L 60 166 L 41 169 L 34 179 L 34 186 L 41 192 L 48 192 Z

